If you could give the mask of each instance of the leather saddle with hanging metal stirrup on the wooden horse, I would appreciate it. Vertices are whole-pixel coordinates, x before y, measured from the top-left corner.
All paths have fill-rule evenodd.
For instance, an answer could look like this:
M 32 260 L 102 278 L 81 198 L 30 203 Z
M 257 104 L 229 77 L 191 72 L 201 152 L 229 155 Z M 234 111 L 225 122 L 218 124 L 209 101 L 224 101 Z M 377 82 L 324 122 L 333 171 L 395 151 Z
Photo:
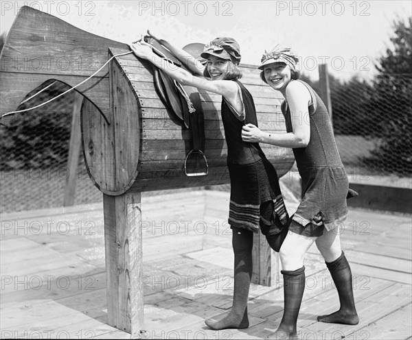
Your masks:
M 174 65 L 190 72 L 184 64 L 177 60 L 176 57 L 168 49 L 160 45 L 159 42 L 151 38 L 147 40 L 145 38 L 145 41 L 152 45 L 153 51 L 161 58 L 168 59 Z M 201 58 L 200 54 L 203 51 L 203 46 L 203 44 L 194 43 L 183 47 L 183 49 L 195 58 Z M 152 67 L 153 82 L 157 95 L 159 95 L 163 105 L 174 114 L 174 117 L 183 123 L 185 128 L 192 132 L 193 147 L 186 153 L 183 165 L 185 174 L 187 176 L 207 175 L 209 167 L 204 154 L 205 121 L 198 89 L 193 86 L 182 86 L 155 65 Z

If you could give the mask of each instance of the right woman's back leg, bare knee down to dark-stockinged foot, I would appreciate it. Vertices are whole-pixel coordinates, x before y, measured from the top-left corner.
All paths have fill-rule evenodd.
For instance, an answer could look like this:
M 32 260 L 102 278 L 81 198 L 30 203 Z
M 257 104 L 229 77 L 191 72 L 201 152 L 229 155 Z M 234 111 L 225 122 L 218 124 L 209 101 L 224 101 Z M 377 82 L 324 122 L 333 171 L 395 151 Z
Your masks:
M 317 247 L 325 258 L 336 289 L 339 294 L 341 307 L 338 311 L 317 317 L 318 321 L 334 324 L 356 325 L 359 317 L 356 313 L 354 291 L 352 288 L 352 271 L 341 250 L 339 229 L 325 232 L 316 240 Z

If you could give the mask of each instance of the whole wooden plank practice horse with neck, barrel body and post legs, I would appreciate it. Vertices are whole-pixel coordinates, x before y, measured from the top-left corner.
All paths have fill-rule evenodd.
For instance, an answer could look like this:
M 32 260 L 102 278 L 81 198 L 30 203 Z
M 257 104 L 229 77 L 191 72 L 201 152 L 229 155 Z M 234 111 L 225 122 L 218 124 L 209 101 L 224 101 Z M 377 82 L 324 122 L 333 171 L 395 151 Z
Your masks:
M 76 86 L 74 90 L 84 96 L 84 162 L 104 197 L 108 323 L 137 336 L 144 322 L 139 282 L 141 191 L 225 184 L 229 183 L 229 172 L 220 96 L 186 88 L 200 116 L 187 121 L 188 106 L 184 106 L 182 97 L 171 95 L 171 87 L 164 83 L 168 79 L 163 79 L 162 90 L 161 82 L 156 82 L 161 75 L 148 62 L 128 52 L 128 45 L 122 42 L 84 32 L 24 6 L 1 53 L 0 113 L 16 110 L 27 93 L 51 80 Z M 109 58 L 110 62 L 88 79 Z M 30 60 L 37 66 L 27 67 Z M 255 99 L 262 130 L 284 131 L 280 101 L 273 97 L 273 90 L 260 80 L 255 66 L 240 67 L 242 82 Z M 182 111 L 176 112 L 176 106 Z M 26 113 L 8 115 L 1 123 L 7 125 L 8 119 Z M 196 127 L 198 132 L 194 131 Z M 185 158 L 193 149 L 201 150 L 207 158 L 201 175 L 187 175 L 187 169 L 185 172 Z M 279 176 L 293 165 L 293 154 L 288 149 L 267 145 L 264 152 Z M 199 174 L 196 169 L 192 173 Z M 259 258 L 267 260 L 270 252 L 260 245 L 266 243 L 260 242 L 260 237 L 257 235 L 255 240 L 258 256 L 253 282 L 268 284 L 270 268 L 259 265 Z

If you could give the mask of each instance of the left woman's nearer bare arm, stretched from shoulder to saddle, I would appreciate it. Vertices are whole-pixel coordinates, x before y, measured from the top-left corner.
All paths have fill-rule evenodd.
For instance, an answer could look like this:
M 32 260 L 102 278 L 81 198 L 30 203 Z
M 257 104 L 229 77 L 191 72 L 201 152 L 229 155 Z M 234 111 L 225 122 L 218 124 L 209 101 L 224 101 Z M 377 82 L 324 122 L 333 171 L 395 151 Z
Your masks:
M 229 100 L 238 93 L 238 85 L 236 82 L 231 82 L 230 80 L 211 81 L 206 80 L 204 77 L 192 75 L 184 69 L 168 62 L 168 60 L 157 56 L 157 54 L 152 51 L 152 47 L 146 42 L 135 42 L 130 45 L 130 48 L 136 56 L 148 60 L 182 85 L 194 86 L 202 90 L 217 93 Z

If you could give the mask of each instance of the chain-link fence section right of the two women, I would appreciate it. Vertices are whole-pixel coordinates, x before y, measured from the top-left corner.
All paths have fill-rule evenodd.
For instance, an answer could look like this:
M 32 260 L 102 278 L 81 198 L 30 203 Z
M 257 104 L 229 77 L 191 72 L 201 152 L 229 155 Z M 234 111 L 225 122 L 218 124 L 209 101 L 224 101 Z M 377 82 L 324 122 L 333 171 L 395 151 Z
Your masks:
M 376 178 L 374 184 L 385 185 L 386 177 L 410 186 L 412 75 L 331 82 L 330 92 L 336 143 L 350 180 Z

